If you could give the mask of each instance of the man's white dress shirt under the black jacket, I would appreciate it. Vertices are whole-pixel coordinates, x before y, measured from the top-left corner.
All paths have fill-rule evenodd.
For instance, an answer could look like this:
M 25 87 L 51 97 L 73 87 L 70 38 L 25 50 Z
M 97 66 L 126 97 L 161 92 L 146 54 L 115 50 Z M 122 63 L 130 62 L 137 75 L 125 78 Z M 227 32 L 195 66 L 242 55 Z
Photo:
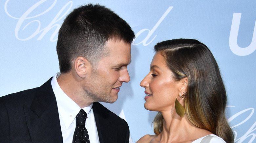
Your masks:
M 60 72 L 53 76 L 51 84 L 57 101 L 63 143 L 72 143 L 76 126 L 75 117 L 81 108 L 60 88 L 57 82 L 59 75 Z M 82 108 L 88 117 L 85 121 L 85 128 L 88 131 L 90 142 L 99 143 L 99 137 L 92 107 L 93 104 Z

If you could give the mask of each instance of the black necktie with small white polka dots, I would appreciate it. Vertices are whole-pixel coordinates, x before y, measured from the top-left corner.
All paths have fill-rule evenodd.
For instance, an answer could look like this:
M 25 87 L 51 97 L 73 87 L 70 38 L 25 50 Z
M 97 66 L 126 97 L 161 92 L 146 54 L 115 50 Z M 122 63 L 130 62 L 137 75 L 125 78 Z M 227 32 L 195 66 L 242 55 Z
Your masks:
M 73 137 L 73 143 L 90 143 L 88 131 L 85 128 L 86 112 L 81 109 L 76 115 L 76 127 Z

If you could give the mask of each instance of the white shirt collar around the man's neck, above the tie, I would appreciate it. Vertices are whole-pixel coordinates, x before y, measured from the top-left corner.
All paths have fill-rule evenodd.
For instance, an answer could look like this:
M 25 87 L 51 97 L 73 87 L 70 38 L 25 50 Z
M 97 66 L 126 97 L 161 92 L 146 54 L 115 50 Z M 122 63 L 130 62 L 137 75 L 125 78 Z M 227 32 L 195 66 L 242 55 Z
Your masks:
M 76 115 L 79 113 L 81 108 L 60 88 L 57 78 L 60 75 L 60 72 L 56 73 L 53 76 L 51 81 L 53 92 L 56 97 L 57 106 L 60 118 L 63 119 L 66 129 L 72 124 Z M 82 108 L 88 115 L 91 112 L 93 104 Z

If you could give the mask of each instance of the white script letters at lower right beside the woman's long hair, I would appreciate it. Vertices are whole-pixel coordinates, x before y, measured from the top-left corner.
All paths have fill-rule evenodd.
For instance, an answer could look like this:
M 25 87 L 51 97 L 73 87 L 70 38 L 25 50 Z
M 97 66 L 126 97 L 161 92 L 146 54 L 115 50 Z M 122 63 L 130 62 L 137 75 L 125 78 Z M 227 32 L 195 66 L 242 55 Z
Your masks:
M 235 106 L 229 106 L 229 107 L 235 107 Z M 251 112 L 250 112 L 251 111 Z M 241 121 L 240 123 L 232 126 L 231 128 L 234 128 L 234 127 L 237 127 L 237 126 L 240 126 L 242 124 L 244 124 L 247 120 L 249 120 L 253 113 L 254 113 L 254 108 L 248 108 L 248 109 L 244 109 L 238 113 L 236 113 L 235 115 L 231 116 L 229 119 L 228 119 L 228 122 L 231 122 L 233 119 L 237 118 L 238 116 L 242 116 L 243 117 L 243 113 L 246 113 L 246 112 L 250 112 L 250 115 L 245 118 L 243 121 Z M 235 142 L 237 143 L 242 143 L 245 139 L 249 138 L 251 136 L 251 139 L 249 140 L 248 143 L 252 143 L 253 140 L 255 139 L 256 135 L 254 133 L 252 133 L 253 131 L 256 130 L 256 122 L 253 123 L 253 125 L 248 129 L 248 131 L 245 133 L 245 135 L 242 135 L 240 138 L 236 139 L 237 138 L 237 132 L 233 130 L 233 132 L 235 133 Z

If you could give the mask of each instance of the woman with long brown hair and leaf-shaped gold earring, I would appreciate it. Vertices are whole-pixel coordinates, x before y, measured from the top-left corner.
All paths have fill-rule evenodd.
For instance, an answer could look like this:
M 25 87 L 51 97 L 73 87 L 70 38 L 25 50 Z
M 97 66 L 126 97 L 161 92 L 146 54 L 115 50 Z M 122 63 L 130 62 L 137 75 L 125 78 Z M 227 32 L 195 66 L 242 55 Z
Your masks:
M 141 81 L 147 110 L 159 111 L 156 135 L 137 143 L 233 143 L 225 117 L 227 96 L 216 60 L 198 40 L 157 43 L 150 72 Z

